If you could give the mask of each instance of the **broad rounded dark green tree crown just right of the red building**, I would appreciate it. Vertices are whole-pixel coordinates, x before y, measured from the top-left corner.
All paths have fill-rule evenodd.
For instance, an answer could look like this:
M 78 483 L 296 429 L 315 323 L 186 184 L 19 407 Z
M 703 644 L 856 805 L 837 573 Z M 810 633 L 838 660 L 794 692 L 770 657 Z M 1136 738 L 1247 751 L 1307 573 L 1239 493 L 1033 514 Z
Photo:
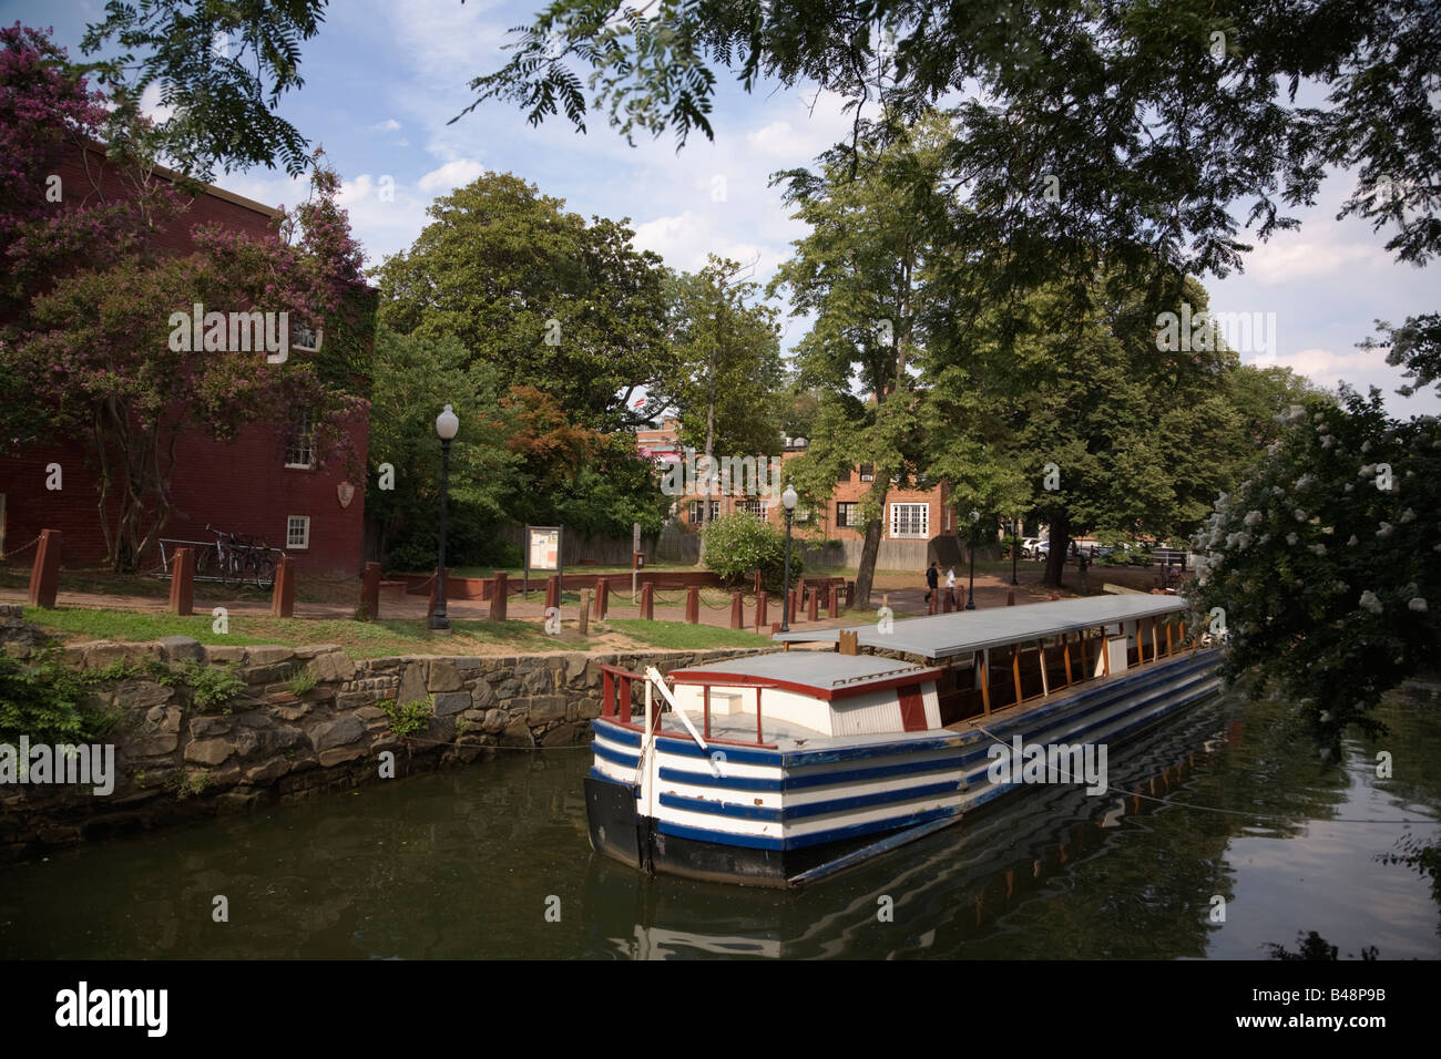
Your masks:
M 633 426 L 634 392 L 674 365 L 664 271 L 624 222 L 588 225 L 563 205 L 509 173 L 438 199 L 411 249 L 376 269 L 380 321 L 454 336 L 503 388 L 543 389 L 578 424 Z

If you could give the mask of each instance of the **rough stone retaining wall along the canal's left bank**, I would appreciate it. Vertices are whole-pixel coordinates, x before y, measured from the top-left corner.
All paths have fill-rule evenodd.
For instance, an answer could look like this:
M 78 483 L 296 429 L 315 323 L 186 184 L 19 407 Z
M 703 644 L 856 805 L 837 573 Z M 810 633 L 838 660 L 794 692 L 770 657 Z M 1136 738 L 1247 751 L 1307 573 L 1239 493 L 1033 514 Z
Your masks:
M 13 624 L 13 615 L 0 618 Z M 27 654 L 32 644 L 22 643 L 17 631 L 0 630 L 0 640 L 20 648 L 12 653 Z M 0 784 L 0 857 L 375 782 L 385 751 L 393 754 L 395 777 L 403 777 L 503 748 L 581 745 L 589 741 L 589 719 L 601 712 L 602 663 L 666 673 L 748 653 L 354 661 L 334 645 L 210 647 L 187 637 L 71 644 L 65 660 L 73 667 L 148 660 L 228 664 L 245 680 L 245 692 L 228 705 L 200 709 L 186 684 L 131 677 L 98 689 L 86 705 L 118 716 L 105 739 L 115 746 L 114 791 Z M 316 686 L 294 694 L 298 673 L 308 673 Z M 411 702 L 432 703 L 427 728 L 396 735 L 385 706 Z

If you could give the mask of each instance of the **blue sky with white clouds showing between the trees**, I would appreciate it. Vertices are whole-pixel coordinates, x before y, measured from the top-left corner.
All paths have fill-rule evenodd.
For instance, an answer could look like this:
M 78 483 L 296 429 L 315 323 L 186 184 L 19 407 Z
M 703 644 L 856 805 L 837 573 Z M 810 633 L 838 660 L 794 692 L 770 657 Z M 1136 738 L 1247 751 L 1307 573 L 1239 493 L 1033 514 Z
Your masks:
M 586 218 L 628 218 L 635 245 L 673 268 L 697 269 L 713 252 L 755 261 L 755 278 L 769 278 L 806 232 L 788 216 L 781 189 L 768 186 L 769 174 L 810 166 L 844 138 L 840 99 L 774 84 L 746 94 L 720 71 L 715 141 L 693 134 L 679 153 L 670 134 L 631 147 L 595 114 L 585 134 L 563 118 L 532 127 L 519 107 L 503 102 L 451 124 L 473 102 L 470 79 L 504 62 L 506 30 L 540 6 L 331 0 L 326 9 L 320 33 L 301 49 L 305 84 L 284 97 L 280 112 L 324 147 L 342 174 L 340 205 L 369 264 L 406 249 L 432 200 L 490 170 L 514 173 Z M 55 42 L 79 58 L 85 24 L 104 19 L 104 3 L 0 0 L 0 19 L 53 27 Z M 215 183 L 268 205 L 305 197 L 304 180 L 265 169 L 223 173 Z M 1329 388 L 1343 380 L 1362 392 L 1376 386 L 1392 415 L 1441 414 L 1435 386 L 1401 398 L 1401 370 L 1385 363 L 1385 352 L 1356 347 L 1376 333 L 1375 320 L 1396 324 L 1437 310 L 1438 282 L 1435 265 L 1395 262 L 1383 249 L 1385 231 L 1336 220 L 1350 187 L 1347 174 L 1333 174 L 1314 206 L 1293 212 L 1300 229 L 1265 243 L 1251 239 L 1244 272 L 1205 278 L 1210 307 L 1248 314 L 1265 329 L 1257 336 L 1274 336 L 1274 346 L 1254 341 L 1241 350 L 1248 363 L 1282 365 Z M 804 318 L 787 317 L 782 347 L 806 327 Z

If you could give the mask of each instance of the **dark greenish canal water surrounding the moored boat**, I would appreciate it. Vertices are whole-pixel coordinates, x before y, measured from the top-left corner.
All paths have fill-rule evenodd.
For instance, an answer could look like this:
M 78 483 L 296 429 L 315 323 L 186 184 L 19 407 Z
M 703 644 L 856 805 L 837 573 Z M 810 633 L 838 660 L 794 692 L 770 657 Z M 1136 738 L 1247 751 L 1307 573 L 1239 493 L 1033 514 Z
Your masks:
M 1329 761 L 1291 713 L 1223 696 L 1114 748 L 1124 794 L 1036 787 L 801 893 L 597 857 L 588 751 L 509 754 L 3 866 L 0 957 L 1441 957 L 1386 860 L 1438 837 L 1393 821 L 1441 817 L 1441 709 L 1395 694 Z

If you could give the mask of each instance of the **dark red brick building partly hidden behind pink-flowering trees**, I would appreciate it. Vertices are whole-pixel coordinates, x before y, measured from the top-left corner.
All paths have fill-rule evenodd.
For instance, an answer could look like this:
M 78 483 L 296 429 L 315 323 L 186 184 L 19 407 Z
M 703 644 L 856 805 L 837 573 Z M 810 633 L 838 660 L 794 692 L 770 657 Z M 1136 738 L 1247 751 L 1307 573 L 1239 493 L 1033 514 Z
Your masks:
M 95 150 L 61 167 L 66 189 L 92 187 L 107 196 L 124 195 L 124 186 Z M 157 170 L 156 179 L 174 174 Z M 190 229 L 219 222 L 252 236 L 271 231 L 280 210 L 219 187 L 205 186 L 186 212 L 157 238 L 171 254 L 195 252 Z M 304 356 L 294 352 L 291 356 Z M 170 486 L 176 513 L 163 537 L 213 542 L 206 524 L 226 532 L 264 539 L 281 548 L 304 571 L 353 573 L 362 560 L 365 539 L 363 474 L 369 426 L 350 428 L 350 442 L 362 468 L 347 480 L 342 461 L 318 468 L 308 437 L 291 424 L 251 424 L 233 444 L 218 444 L 202 432 L 182 437 L 176 450 Z M 62 488 L 48 488 L 50 468 L 61 468 Z M 0 556 L 13 553 L 42 529 L 63 533 L 62 562 L 66 566 L 99 563 L 105 540 L 99 523 L 97 468 L 81 442 L 56 438 L 53 444 L 30 447 L 19 457 L 0 457 Z M 114 519 L 114 511 L 110 513 Z M 33 552 L 17 556 L 29 562 Z M 146 556 L 157 563 L 159 556 Z

